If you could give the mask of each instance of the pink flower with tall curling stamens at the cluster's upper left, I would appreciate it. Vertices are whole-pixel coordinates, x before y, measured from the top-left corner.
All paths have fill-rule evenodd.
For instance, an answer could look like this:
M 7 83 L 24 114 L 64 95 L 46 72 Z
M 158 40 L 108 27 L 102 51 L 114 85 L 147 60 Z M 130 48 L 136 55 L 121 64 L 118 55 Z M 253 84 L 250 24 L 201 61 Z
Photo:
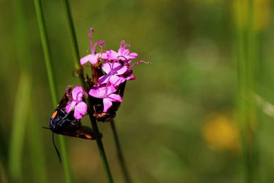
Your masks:
M 107 54 L 106 53 L 95 53 L 95 49 L 97 47 L 97 45 L 99 45 L 100 47 L 103 47 L 105 45 L 105 41 L 104 40 L 98 40 L 97 42 L 95 42 L 94 45 L 92 45 L 92 34 L 93 29 L 90 28 L 90 32 L 88 32 L 89 38 L 90 38 L 90 50 L 91 50 L 91 54 L 84 56 L 83 58 L 80 59 L 80 63 L 82 65 L 86 64 L 86 62 L 90 62 L 90 64 L 96 64 L 99 60 L 99 58 L 102 59 L 107 59 Z

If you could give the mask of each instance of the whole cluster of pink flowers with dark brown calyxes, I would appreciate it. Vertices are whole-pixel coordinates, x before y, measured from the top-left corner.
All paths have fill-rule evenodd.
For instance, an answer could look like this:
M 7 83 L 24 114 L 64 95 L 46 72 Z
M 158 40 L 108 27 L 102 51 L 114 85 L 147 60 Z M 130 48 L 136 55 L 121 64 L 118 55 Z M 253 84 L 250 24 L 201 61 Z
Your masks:
M 128 49 L 130 45 L 125 44 L 125 40 L 121 41 L 118 51 L 112 49 L 103 51 L 105 41 L 99 40 L 92 44 L 92 32 L 93 29 L 90 28 L 88 35 L 91 53 L 79 60 L 82 65 L 91 64 L 92 79 L 86 78 L 88 94 L 84 92 L 81 86 L 73 88 L 72 96 L 69 96 L 70 101 L 66 106 L 66 112 L 69 113 L 74 110 L 74 117 L 81 119 L 88 110 L 83 97 L 92 97 L 94 116 L 99 121 L 107 121 L 115 116 L 115 112 L 123 100 L 125 82 L 135 80 L 132 68 L 144 61 L 130 65 L 133 59 L 138 58 L 138 54 L 130 52 Z M 95 52 L 97 45 L 101 47 L 99 53 Z

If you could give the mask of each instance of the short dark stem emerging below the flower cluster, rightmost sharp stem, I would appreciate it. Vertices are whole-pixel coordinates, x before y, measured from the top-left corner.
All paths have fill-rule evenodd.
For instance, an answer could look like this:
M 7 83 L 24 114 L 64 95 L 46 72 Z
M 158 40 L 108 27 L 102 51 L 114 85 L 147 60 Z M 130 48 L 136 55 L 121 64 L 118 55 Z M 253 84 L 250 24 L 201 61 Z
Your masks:
M 112 119 L 110 121 L 110 127 L 112 128 L 112 132 L 113 132 L 113 136 L 114 136 L 114 143 L 115 143 L 115 146 L 116 146 L 116 153 L 117 153 L 118 160 L 119 160 L 122 172 L 123 172 L 123 176 L 125 178 L 125 182 L 131 183 L 132 180 L 129 177 L 129 172 L 128 172 L 127 166 L 125 164 L 125 159 L 123 157 L 123 153 L 122 153 L 122 150 L 121 150 L 121 145 L 120 145 L 118 134 L 117 134 L 117 131 L 116 131 L 114 119 Z

